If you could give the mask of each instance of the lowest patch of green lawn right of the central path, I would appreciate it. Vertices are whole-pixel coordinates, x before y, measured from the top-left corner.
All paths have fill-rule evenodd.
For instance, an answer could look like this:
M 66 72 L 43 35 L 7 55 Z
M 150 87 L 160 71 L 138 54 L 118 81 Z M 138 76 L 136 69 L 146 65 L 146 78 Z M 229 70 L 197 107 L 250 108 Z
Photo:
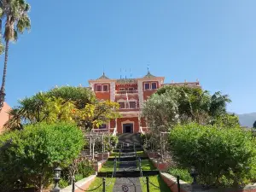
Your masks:
M 150 192 L 159 192 L 159 191 L 171 192 L 171 189 L 167 186 L 167 184 L 160 177 L 160 175 L 150 176 L 148 177 L 148 180 L 150 183 L 154 183 L 154 185 L 157 186 L 156 188 L 149 183 Z M 143 181 L 146 182 L 146 177 L 143 177 L 143 178 L 140 177 L 140 182 L 141 182 L 143 192 L 147 192 L 147 184 L 145 184 Z

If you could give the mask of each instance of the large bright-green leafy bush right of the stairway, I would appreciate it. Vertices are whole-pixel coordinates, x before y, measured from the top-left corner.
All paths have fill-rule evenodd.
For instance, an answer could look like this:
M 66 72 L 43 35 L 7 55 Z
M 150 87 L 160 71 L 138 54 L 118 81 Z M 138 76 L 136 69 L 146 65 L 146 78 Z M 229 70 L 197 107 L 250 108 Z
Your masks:
M 170 145 L 173 160 L 184 169 L 195 166 L 201 183 L 238 185 L 255 177 L 255 140 L 248 131 L 177 125 L 171 131 Z

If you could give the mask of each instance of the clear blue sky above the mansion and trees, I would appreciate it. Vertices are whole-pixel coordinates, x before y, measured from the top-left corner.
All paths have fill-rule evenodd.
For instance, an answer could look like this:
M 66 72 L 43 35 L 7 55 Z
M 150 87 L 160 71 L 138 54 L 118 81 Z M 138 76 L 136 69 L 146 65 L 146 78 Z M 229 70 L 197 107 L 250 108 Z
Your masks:
M 166 82 L 199 79 L 230 95 L 230 111 L 256 111 L 255 0 L 27 1 L 32 30 L 9 50 L 11 106 L 56 84 L 88 85 L 103 66 L 110 78 L 120 67 L 142 77 L 149 62 Z

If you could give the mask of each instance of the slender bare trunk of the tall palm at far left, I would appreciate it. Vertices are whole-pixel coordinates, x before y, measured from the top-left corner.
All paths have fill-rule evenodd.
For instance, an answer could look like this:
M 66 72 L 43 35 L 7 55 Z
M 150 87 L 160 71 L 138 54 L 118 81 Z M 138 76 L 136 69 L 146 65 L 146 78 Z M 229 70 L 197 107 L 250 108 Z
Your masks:
M 5 79 L 6 79 L 6 72 L 7 72 L 8 51 L 9 51 L 9 40 L 7 40 L 6 44 L 5 44 L 5 55 L 4 55 L 4 65 L 3 65 L 3 80 L 2 80 L 1 90 L 0 90 L 0 112 L 3 108 L 3 102 L 5 100 Z

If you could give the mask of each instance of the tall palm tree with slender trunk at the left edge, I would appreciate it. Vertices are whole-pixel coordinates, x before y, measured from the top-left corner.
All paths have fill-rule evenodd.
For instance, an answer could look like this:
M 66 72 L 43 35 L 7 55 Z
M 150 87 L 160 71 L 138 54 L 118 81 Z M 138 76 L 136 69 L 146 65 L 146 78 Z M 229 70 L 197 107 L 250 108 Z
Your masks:
M 30 5 L 25 0 L 2 0 L 0 8 L 1 26 L 2 20 L 5 21 L 3 38 L 5 40 L 5 55 L 3 65 L 3 80 L 0 89 L 0 112 L 3 108 L 5 100 L 5 80 L 7 73 L 7 63 L 9 54 L 9 42 L 16 41 L 18 32 L 22 33 L 25 29 L 29 30 L 31 27 L 30 19 L 27 12 Z M 2 29 L 0 29 L 2 30 Z

